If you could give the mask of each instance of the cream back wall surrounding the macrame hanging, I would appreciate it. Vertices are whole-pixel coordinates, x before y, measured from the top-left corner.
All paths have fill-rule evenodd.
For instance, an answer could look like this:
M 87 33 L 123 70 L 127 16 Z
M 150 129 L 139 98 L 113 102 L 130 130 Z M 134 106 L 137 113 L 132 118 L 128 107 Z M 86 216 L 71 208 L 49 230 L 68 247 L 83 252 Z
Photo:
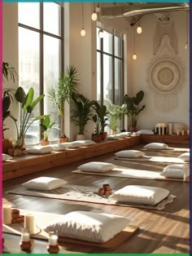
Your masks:
M 144 90 L 145 98 L 143 104 L 146 108 L 138 119 L 137 129 L 153 129 L 157 122 L 183 122 L 187 127 L 190 124 L 190 81 L 189 81 L 189 48 L 185 50 L 185 13 L 172 13 L 170 20 L 175 21 L 175 28 L 178 38 L 178 56 L 185 66 L 185 83 L 178 92 L 178 107 L 164 113 L 155 108 L 155 96 L 146 82 L 146 71 L 153 57 L 153 36 L 157 17 L 155 15 L 145 15 L 142 18 L 142 34 L 136 33 L 136 53 L 137 60 L 132 60 L 133 55 L 133 33 L 128 32 L 128 90 L 136 94 L 138 90 Z M 130 31 L 131 29 L 129 29 Z M 129 51 L 129 49 L 132 51 Z

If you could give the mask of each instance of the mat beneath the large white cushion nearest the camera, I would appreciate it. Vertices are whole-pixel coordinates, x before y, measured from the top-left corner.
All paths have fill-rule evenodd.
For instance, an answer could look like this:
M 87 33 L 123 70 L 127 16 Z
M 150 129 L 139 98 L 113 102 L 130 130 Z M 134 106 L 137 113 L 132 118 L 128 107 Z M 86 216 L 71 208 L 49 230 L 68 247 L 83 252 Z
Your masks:
M 38 239 L 42 241 L 48 240 L 48 233 L 46 233 L 43 229 L 47 226 L 48 223 L 60 218 L 62 214 L 49 214 L 44 212 L 38 212 L 33 210 L 20 210 L 20 214 L 33 214 L 34 222 L 35 222 L 35 230 L 34 233 L 31 234 L 33 239 Z M 2 232 L 12 235 L 20 236 L 22 232 L 22 228 L 24 227 L 24 223 L 12 223 L 10 225 L 2 225 Z M 125 227 L 123 231 L 118 233 L 116 236 L 111 238 L 109 241 L 105 243 L 95 243 L 89 241 L 80 241 L 68 237 L 60 237 L 59 236 L 59 245 L 66 244 L 75 244 L 75 245 L 83 245 L 83 246 L 93 246 L 101 249 L 116 249 L 118 246 L 127 241 L 131 236 L 133 236 L 139 227 L 134 225 L 129 225 Z

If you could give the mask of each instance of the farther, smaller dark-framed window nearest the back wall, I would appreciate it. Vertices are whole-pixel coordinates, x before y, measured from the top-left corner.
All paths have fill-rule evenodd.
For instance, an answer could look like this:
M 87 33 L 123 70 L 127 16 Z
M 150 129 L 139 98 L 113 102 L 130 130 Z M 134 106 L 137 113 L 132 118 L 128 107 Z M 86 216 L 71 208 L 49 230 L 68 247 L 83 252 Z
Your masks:
M 103 38 L 97 28 L 97 99 L 102 103 L 122 104 L 124 94 L 123 35 L 106 28 Z

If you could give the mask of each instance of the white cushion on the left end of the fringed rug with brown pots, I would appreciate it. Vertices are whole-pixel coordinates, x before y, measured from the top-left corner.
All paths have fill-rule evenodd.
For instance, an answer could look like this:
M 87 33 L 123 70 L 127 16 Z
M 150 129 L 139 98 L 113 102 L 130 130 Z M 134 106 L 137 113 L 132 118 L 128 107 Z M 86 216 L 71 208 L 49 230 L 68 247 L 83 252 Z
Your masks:
M 63 187 L 67 181 L 64 179 L 57 179 L 51 177 L 39 177 L 30 179 L 26 183 L 22 183 L 24 188 L 37 189 L 37 190 L 52 190 L 55 188 Z

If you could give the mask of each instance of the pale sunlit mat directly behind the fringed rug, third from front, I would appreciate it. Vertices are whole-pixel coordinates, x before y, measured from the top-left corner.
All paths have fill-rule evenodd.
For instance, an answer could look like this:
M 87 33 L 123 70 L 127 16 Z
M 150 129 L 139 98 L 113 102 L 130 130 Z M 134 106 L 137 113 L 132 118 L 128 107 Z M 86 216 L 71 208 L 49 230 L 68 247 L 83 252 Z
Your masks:
M 110 176 L 110 177 L 120 177 L 120 178 L 129 178 L 129 179 L 155 179 L 155 180 L 170 180 L 170 181 L 181 181 L 181 182 L 189 182 L 189 177 L 184 179 L 173 179 L 173 178 L 166 178 L 162 175 L 162 171 L 155 171 L 155 170 L 137 170 L 137 169 L 127 169 L 124 167 L 116 167 L 110 171 L 105 173 L 101 172 L 88 172 L 88 171 L 81 171 L 81 170 L 72 170 L 72 173 L 75 174 L 91 174 L 91 175 L 103 175 L 103 176 Z

